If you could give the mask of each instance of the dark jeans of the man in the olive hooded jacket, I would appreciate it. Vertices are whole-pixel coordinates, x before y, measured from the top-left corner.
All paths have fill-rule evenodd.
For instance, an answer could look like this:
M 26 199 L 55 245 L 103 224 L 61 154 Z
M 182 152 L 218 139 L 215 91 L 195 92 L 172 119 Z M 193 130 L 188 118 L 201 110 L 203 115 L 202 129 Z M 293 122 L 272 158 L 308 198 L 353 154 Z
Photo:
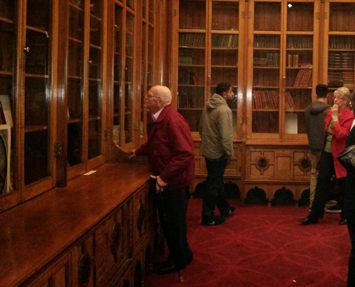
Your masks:
M 226 171 L 228 160 L 225 157 L 218 159 L 205 158 L 207 167 L 206 188 L 203 191 L 202 217 L 209 219 L 214 217 L 214 208 L 217 205 L 219 212 L 228 213 L 230 205 L 223 199 L 223 175 Z

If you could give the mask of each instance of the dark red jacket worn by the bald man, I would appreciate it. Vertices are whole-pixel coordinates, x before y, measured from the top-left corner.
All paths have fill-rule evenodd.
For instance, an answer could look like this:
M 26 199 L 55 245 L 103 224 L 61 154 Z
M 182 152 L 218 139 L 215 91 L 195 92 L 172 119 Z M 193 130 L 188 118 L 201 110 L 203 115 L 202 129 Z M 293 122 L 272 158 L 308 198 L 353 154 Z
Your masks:
M 136 155 L 148 155 L 153 174 L 171 187 L 194 181 L 194 144 L 189 124 L 171 104 L 149 125 L 148 141 L 136 150 Z

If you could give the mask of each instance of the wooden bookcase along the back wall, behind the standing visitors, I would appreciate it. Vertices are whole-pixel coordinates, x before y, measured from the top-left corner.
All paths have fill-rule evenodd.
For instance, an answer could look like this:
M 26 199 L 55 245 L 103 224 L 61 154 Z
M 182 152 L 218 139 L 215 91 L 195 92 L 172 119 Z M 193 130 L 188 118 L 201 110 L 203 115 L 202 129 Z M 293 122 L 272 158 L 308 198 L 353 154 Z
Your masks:
M 206 176 L 200 111 L 229 81 L 237 157 L 226 181 L 242 196 L 260 188 L 271 203 L 281 190 L 297 203 L 310 179 L 304 109 L 315 86 L 354 88 L 352 13 L 354 1 L 173 1 L 171 82 L 195 141 L 196 184 Z

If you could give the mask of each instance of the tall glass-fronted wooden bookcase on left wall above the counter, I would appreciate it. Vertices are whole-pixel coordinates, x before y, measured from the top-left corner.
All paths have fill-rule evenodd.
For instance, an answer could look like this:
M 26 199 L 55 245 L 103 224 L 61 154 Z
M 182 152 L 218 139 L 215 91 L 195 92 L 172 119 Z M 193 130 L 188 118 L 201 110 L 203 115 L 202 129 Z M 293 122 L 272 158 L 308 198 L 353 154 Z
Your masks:
M 155 0 L 1 5 L 0 95 L 13 121 L 10 169 L 1 156 L 0 212 L 146 139 L 143 98 L 160 83 L 156 43 L 165 38 L 155 19 L 166 9 Z

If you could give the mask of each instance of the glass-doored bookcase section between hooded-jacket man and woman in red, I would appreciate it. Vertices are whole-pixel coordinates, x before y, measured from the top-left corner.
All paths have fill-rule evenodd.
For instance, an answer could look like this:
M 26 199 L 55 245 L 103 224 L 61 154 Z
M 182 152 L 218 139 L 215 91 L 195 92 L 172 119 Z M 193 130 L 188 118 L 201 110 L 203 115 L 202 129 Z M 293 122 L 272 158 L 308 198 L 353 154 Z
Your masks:
M 303 111 L 317 83 L 319 3 L 253 1 L 249 9 L 248 137 L 304 139 Z

